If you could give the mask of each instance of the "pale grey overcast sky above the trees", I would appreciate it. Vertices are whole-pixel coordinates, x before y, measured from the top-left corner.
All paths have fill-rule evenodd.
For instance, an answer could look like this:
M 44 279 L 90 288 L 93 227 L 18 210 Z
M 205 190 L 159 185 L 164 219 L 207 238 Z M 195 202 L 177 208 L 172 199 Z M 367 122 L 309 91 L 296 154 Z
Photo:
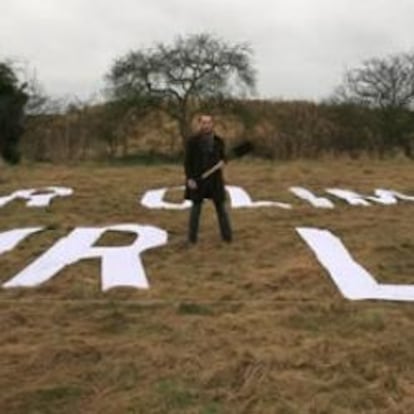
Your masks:
M 260 97 L 326 97 L 346 68 L 414 50 L 414 0 L 1 0 L 0 59 L 85 99 L 114 58 L 209 32 L 254 50 Z

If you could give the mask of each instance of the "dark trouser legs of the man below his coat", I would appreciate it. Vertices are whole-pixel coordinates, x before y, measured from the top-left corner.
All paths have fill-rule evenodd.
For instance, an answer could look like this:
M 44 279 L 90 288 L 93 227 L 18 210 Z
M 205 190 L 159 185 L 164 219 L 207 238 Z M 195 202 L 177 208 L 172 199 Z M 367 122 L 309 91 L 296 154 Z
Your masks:
M 226 211 L 224 201 L 213 200 L 214 207 L 216 208 L 217 219 L 220 226 L 221 238 L 226 242 L 232 241 L 232 230 L 230 219 Z M 203 200 L 194 201 L 190 211 L 190 221 L 188 226 L 188 241 L 190 243 L 196 243 L 198 237 L 198 228 L 200 224 L 201 208 Z

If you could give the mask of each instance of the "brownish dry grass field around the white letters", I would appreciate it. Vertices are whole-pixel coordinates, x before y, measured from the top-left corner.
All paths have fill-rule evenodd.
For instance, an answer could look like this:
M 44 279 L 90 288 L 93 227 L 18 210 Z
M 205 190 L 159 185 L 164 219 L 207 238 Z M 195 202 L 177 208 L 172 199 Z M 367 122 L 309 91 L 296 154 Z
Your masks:
M 414 203 L 318 210 L 288 192 L 302 185 L 414 195 L 414 164 L 325 160 L 230 164 L 229 183 L 278 208 L 233 210 L 222 245 L 213 208 L 199 245 L 183 248 L 186 211 L 150 211 L 151 188 L 180 185 L 182 168 L 3 167 L 0 195 L 64 185 L 47 209 L 16 201 L 0 231 L 47 231 L 0 256 L 5 282 L 78 226 L 152 224 L 169 244 L 144 254 L 151 289 L 100 290 L 100 266 L 82 261 L 36 289 L 0 291 L 0 413 L 412 413 L 414 304 L 350 302 L 295 232 L 341 237 L 378 281 L 414 281 Z M 170 200 L 180 198 L 171 194 Z M 102 245 L 129 243 L 108 233 Z

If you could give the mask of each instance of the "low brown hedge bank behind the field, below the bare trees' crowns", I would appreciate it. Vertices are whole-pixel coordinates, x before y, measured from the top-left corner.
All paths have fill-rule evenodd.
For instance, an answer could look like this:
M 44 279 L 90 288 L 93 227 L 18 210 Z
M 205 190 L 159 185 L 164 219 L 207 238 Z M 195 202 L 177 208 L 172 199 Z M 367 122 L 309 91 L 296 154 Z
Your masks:
M 385 113 L 358 104 L 239 101 L 212 110 L 230 143 L 251 140 L 253 155 L 290 160 L 324 155 L 387 157 L 414 154 L 414 113 Z M 392 115 L 392 116 L 391 116 Z M 71 106 L 26 120 L 21 151 L 33 161 L 78 161 L 147 155 L 176 159 L 182 143 L 174 120 L 112 105 Z

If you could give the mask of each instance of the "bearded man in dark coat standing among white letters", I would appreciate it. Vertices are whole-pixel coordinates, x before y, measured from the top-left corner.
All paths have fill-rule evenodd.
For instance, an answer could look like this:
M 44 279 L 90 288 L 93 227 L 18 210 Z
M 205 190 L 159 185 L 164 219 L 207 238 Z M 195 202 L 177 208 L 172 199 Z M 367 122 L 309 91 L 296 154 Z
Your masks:
M 201 115 L 199 132 L 187 140 L 185 150 L 185 198 L 193 202 L 188 226 L 188 241 L 191 244 L 197 243 L 204 199 L 211 199 L 214 203 L 222 240 L 228 243 L 232 241 L 231 224 L 225 208 L 226 192 L 222 171 L 225 161 L 224 141 L 214 133 L 212 116 Z M 203 177 L 204 173 L 216 165 L 219 168 Z

